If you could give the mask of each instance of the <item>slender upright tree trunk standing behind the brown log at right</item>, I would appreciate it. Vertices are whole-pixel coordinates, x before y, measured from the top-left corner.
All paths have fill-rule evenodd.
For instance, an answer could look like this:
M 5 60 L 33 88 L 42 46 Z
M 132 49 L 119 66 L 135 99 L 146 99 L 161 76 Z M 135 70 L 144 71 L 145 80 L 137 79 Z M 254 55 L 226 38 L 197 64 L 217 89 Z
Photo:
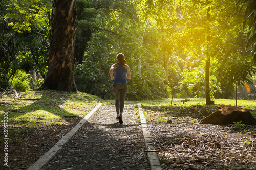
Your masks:
M 207 4 L 209 2 L 207 1 Z M 207 20 L 210 20 L 210 7 L 207 9 Z M 210 81 L 209 81 L 209 74 L 210 74 L 210 55 L 209 55 L 209 41 L 211 39 L 210 35 L 210 27 L 208 26 L 208 34 L 207 34 L 207 52 L 206 52 L 206 66 L 205 66 L 205 98 L 206 98 L 206 105 L 210 105 L 212 102 L 210 101 Z

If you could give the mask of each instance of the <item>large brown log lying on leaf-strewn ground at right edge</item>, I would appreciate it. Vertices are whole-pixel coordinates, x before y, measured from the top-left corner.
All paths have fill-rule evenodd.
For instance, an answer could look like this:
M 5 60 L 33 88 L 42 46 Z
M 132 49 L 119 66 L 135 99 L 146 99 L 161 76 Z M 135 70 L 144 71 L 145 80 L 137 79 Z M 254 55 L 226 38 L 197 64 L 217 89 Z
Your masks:
M 205 117 L 200 124 L 229 125 L 242 121 L 243 124 L 256 125 L 251 113 L 236 106 L 219 105 L 218 110 Z

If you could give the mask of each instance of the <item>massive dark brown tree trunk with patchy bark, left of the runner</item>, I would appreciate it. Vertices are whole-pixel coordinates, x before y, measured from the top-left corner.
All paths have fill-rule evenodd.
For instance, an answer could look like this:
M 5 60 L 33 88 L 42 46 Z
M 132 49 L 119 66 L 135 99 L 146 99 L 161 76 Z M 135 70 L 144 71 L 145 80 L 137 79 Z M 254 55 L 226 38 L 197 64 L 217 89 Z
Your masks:
M 49 64 L 42 89 L 77 91 L 74 79 L 75 3 L 75 0 L 53 1 Z

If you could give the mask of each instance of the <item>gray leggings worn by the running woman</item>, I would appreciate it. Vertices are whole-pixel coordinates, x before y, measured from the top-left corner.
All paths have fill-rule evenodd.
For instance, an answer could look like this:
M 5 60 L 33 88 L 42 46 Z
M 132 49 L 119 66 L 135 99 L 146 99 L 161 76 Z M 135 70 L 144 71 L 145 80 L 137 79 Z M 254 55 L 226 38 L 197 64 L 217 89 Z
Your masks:
M 113 83 L 113 92 L 116 98 L 116 113 L 123 113 L 124 99 L 128 91 L 127 83 Z

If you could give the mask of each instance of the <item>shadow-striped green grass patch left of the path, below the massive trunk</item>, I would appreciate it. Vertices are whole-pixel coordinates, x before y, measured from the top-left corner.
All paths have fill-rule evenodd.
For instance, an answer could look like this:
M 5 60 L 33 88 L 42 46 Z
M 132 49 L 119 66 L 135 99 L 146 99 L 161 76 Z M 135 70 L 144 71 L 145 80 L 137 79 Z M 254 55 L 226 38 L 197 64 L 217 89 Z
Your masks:
M 68 118 L 80 118 L 88 114 L 98 103 L 96 96 L 86 93 L 29 91 L 21 93 L 22 99 L 4 95 L 0 99 L 0 126 L 4 124 L 4 112 L 8 112 L 8 125 L 56 125 Z

